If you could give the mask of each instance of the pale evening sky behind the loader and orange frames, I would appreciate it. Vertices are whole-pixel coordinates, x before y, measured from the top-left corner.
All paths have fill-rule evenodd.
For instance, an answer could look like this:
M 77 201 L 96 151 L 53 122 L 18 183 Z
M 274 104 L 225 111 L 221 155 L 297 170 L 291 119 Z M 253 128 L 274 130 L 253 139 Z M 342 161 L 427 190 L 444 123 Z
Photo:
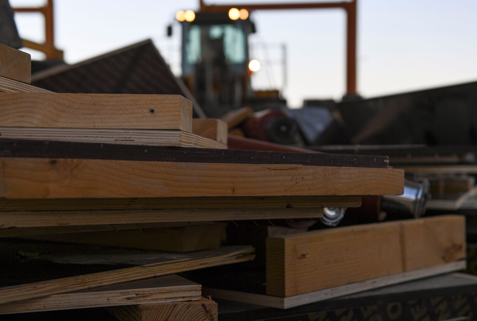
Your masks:
M 363 97 L 477 81 L 476 0 L 358 1 L 358 92 Z M 206 0 L 240 2 L 275 1 Z M 10 0 L 10 4 L 35 6 L 43 0 Z M 197 10 L 198 0 L 55 0 L 56 46 L 65 51 L 66 62 L 74 63 L 151 38 L 178 73 L 180 26 L 174 24 L 172 38 L 166 37 L 166 26 L 177 10 L 187 9 Z M 341 99 L 344 11 L 269 10 L 251 16 L 257 33 L 250 42 L 268 43 L 271 60 L 280 58 L 277 44 L 287 46 L 288 84 L 283 94 L 290 106 L 298 107 L 307 98 Z M 22 13 L 15 20 L 21 37 L 42 40 L 40 15 Z M 261 56 L 256 58 L 266 59 L 266 53 L 257 52 Z M 257 86 L 281 83 L 280 69 L 268 70 L 257 72 Z

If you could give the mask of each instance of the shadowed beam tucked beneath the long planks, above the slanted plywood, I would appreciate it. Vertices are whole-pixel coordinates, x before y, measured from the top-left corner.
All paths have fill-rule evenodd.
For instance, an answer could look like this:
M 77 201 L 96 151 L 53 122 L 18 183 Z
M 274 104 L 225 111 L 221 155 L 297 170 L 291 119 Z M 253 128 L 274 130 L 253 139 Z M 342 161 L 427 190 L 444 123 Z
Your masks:
M 193 252 L 220 248 L 226 224 L 189 225 L 170 228 L 135 228 L 133 230 L 46 234 L 25 237 L 54 242 L 94 244 L 130 249 L 154 249 Z

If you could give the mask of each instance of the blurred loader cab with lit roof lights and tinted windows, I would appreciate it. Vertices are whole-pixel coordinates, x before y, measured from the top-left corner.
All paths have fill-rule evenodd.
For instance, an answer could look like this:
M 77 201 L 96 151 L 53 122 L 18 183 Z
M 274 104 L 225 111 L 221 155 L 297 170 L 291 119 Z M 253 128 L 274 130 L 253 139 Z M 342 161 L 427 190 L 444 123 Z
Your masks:
M 252 95 L 248 37 L 255 32 L 248 13 L 232 20 L 228 12 L 197 12 L 181 24 L 182 77 L 198 103 L 210 117 L 246 104 Z

